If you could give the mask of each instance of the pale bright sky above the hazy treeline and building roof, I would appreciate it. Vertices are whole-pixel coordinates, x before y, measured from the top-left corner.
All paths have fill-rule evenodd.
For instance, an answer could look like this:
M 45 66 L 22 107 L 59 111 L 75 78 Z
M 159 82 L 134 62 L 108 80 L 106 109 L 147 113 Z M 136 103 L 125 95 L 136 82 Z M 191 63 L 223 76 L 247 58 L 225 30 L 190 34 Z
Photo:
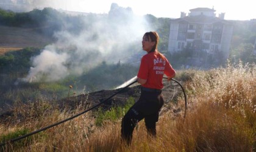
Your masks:
M 44 0 L 44 4 L 45 4 Z M 225 13 L 224 19 L 249 20 L 256 18 L 256 7 L 251 0 L 51 0 L 48 5 L 55 9 L 78 12 L 108 13 L 112 2 L 120 7 L 130 7 L 135 15 L 151 14 L 157 18 L 180 18 L 180 12 L 188 13 L 190 9 L 207 7 L 219 13 Z

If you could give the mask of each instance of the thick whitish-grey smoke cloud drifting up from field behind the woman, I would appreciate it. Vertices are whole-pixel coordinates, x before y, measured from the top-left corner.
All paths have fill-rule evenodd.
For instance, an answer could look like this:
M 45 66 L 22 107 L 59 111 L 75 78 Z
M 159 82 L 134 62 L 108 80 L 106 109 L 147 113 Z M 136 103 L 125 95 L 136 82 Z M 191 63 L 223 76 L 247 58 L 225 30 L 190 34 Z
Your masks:
M 81 75 L 102 61 L 117 63 L 142 51 L 141 39 L 149 30 L 142 17 L 117 4 L 112 4 L 108 16 L 85 16 L 84 22 L 87 26 L 78 34 L 67 30 L 55 33 L 57 42 L 32 59 L 33 67 L 23 80 L 56 81 Z

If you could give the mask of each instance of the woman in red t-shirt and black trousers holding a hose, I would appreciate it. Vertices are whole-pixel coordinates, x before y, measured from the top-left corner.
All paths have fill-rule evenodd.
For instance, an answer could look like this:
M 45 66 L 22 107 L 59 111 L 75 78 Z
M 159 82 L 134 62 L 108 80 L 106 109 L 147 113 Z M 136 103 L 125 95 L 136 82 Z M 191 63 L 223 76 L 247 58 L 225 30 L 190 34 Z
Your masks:
M 176 72 L 164 55 L 157 50 L 159 36 L 157 32 L 146 32 L 142 40 L 142 48 L 148 54 L 141 58 L 137 81 L 141 84 L 141 95 L 122 119 L 121 136 L 128 145 L 132 142 L 134 127 L 144 119 L 148 133 L 156 136 L 155 125 L 159 111 L 163 106 L 163 75 L 168 80 L 175 77 Z

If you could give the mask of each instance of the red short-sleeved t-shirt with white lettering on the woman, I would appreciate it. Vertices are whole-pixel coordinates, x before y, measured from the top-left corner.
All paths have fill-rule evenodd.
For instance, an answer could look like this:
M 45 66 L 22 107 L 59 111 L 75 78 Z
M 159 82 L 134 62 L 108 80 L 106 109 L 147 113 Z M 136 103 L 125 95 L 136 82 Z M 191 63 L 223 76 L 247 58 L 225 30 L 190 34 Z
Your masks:
M 144 55 L 141 58 L 140 69 L 137 77 L 147 80 L 144 86 L 146 88 L 162 89 L 163 75 L 167 77 L 174 74 L 169 61 L 162 55 L 155 51 Z

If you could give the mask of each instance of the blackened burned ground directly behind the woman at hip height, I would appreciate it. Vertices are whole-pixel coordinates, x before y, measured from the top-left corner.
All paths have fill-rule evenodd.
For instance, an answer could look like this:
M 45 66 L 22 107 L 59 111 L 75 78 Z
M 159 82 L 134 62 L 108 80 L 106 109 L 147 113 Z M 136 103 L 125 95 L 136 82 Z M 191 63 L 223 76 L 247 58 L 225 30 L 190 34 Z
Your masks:
M 77 106 L 91 107 L 99 103 L 103 109 L 109 109 L 112 106 L 124 106 L 128 98 L 133 97 L 135 101 L 140 97 L 140 85 L 129 88 L 119 88 L 114 90 L 101 90 L 89 94 L 81 94 L 76 97 L 63 98 L 59 101 L 60 109 L 76 109 Z M 115 95 L 116 94 L 116 95 Z M 165 82 L 165 88 L 162 90 L 165 103 L 176 102 L 178 95 L 182 94 L 182 89 L 177 83 Z M 112 97 L 112 95 L 115 95 Z M 110 98 L 112 97 L 112 98 Z M 109 99 L 108 99 L 109 98 Z

